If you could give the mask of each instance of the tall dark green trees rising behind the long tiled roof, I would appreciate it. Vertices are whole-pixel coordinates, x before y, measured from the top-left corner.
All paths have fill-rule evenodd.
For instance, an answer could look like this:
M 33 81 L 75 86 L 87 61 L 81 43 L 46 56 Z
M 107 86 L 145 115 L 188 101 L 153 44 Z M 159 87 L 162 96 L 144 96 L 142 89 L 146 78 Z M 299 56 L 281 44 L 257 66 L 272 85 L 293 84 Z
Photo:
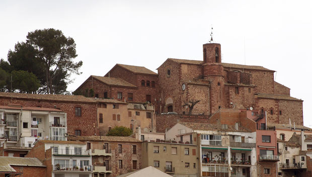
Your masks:
M 34 74 L 39 80 L 39 87 L 34 90 L 37 85 L 35 84 L 32 88 L 28 86 L 26 89 L 33 93 L 66 93 L 67 84 L 71 82 L 70 75 L 81 74 L 79 69 L 83 64 L 82 61 L 73 61 L 77 56 L 74 40 L 71 37 L 65 37 L 60 30 L 52 28 L 29 32 L 26 38 L 26 42 L 18 42 L 14 50 L 9 51 L 8 62 L 0 61 L 0 68 L 12 75 L 13 71 L 20 70 Z M 27 75 L 25 72 L 16 72 L 16 74 L 20 77 Z M 19 80 L 21 79 L 16 79 L 16 81 Z M 12 83 L 16 81 L 13 80 Z M 14 84 L 17 85 L 14 87 L 16 91 L 28 92 L 25 91 L 26 85 L 38 83 L 35 77 L 23 81 L 24 83 Z M 0 86 L 2 86 L 1 83 Z M 8 86 L 3 86 L 0 89 L 9 91 L 8 88 Z

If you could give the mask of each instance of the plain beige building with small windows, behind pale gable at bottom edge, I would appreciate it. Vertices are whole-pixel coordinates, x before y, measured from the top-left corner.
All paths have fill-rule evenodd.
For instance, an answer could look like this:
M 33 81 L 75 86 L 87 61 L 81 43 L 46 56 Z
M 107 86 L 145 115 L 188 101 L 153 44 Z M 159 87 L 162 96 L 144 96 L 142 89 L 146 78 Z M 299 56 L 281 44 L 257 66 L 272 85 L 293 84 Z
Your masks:
M 142 143 L 142 167 L 153 166 L 173 176 L 197 176 L 197 146 L 158 140 Z

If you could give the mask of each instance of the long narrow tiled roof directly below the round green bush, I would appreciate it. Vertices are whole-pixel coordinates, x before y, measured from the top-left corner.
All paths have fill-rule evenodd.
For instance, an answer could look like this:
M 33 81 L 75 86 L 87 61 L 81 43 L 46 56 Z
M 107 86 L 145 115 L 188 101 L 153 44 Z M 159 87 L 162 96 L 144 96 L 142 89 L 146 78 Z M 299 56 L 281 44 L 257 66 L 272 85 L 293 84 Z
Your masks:
M 67 140 L 141 142 L 140 140 L 128 136 L 68 136 Z

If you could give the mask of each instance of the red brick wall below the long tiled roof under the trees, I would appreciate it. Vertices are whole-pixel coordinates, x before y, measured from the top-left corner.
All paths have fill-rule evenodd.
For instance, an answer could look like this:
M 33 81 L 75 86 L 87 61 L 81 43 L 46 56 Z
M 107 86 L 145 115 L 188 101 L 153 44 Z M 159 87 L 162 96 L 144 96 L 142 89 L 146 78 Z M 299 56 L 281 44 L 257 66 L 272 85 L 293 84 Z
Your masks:
M 0 98 L 0 105 L 20 104 L 25 107 L 59 108 L 67 113 L 67 133 L 74 134 L 75 130 L 81 130 L 83 136 L 91 136 L 98 133 L 97 105 L 96 103 L 66 102 L 53 100 L 25 100 L 17 98 Z M 82 108 L 82 116 L 75 116 L 75 107 Z

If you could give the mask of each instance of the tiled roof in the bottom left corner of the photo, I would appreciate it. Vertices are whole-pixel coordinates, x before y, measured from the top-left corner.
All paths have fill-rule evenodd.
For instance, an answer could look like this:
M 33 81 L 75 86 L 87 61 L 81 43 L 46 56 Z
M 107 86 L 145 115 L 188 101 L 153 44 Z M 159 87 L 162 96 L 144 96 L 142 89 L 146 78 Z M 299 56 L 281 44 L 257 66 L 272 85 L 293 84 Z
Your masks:
M 17 172 L 14 168 L 11 167 L 11 165 L 45 167 L 45 165 L 38 158 L 0 156 L 0 171 Z

